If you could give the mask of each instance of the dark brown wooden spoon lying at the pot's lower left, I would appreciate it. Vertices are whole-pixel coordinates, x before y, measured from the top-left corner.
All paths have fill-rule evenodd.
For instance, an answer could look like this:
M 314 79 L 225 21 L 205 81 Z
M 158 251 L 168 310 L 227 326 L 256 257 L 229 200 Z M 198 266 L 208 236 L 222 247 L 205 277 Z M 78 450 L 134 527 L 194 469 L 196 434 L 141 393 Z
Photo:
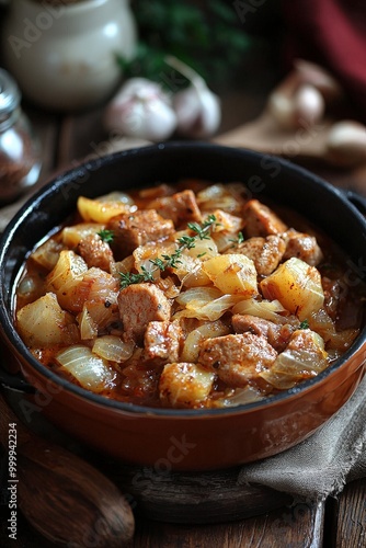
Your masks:
M 115 484 L 76 455 L 33 434 L 1 395 L 0 437 L 5 450 L 12 448 L 16 456 L 15 478 L 10 475 L 8 487 L 14 486 L 19 507 L 43 536 L 72 548 L 121 548 L 131 539 L 134 514 Z

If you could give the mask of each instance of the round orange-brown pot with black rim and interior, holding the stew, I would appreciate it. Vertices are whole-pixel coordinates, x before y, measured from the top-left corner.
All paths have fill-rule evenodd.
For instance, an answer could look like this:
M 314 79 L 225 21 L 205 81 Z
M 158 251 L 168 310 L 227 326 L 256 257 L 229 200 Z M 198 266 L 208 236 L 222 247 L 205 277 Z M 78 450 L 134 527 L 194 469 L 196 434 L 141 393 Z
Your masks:
M 182 178 L 242 181 L 254 197 L 291 207 L 347 252 L 350 283 L 359 283 L 366 264 L 366 222 L 354 194 L 276 157 L 171 142 L 94 159 L 57 176 L 31 198 L 1 240 L 0 321 L 12 359 L 37 390 L 30 409 L 43 411 L 77 439 L 126 463 L 208 470 L 277 454 L 311 435 L 359 384 L 366 329 L 318 377 L 271 399 L 230 409 L 162 410 L 111 401 L 58 377 L 31 355 L 13 323 L 13 288 L 24 258 L 75 210 L 79 195 L 95 197 Z

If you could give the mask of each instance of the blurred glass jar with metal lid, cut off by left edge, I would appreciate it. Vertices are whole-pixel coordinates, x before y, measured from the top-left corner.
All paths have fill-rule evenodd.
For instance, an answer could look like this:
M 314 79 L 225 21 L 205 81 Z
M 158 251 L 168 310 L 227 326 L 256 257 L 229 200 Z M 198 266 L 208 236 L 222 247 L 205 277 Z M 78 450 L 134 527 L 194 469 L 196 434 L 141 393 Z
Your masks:
M 0 69 L 0 203 L 35 184 L 41 171 L 39 142 L 20 102 L 16 82 Z

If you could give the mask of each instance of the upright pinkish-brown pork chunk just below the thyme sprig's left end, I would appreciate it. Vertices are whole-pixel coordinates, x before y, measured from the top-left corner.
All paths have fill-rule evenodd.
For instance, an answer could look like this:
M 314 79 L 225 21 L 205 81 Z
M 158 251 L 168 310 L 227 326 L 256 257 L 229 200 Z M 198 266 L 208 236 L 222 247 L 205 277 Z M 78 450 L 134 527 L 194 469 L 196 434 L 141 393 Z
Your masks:
M 125 341 L 141 343 L 150 321 L 168 321 L 171 304 L 153 284 L 134 284 L 118 294 L 119 316 Z

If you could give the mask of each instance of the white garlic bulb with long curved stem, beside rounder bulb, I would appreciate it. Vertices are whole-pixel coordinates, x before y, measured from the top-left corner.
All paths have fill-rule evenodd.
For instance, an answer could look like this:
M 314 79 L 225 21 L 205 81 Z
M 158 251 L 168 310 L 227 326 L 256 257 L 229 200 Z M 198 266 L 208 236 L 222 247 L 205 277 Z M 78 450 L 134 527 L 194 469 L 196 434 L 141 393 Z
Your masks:
M 209 137 L 221 122 L 219 98 L 207 88 L 205 80 L 184 62 L 172 56 L 167 57 L 165 62 L 191 82 L 188 88 L 179 91 L 173 98 L 178 133 L 198 139 Z

